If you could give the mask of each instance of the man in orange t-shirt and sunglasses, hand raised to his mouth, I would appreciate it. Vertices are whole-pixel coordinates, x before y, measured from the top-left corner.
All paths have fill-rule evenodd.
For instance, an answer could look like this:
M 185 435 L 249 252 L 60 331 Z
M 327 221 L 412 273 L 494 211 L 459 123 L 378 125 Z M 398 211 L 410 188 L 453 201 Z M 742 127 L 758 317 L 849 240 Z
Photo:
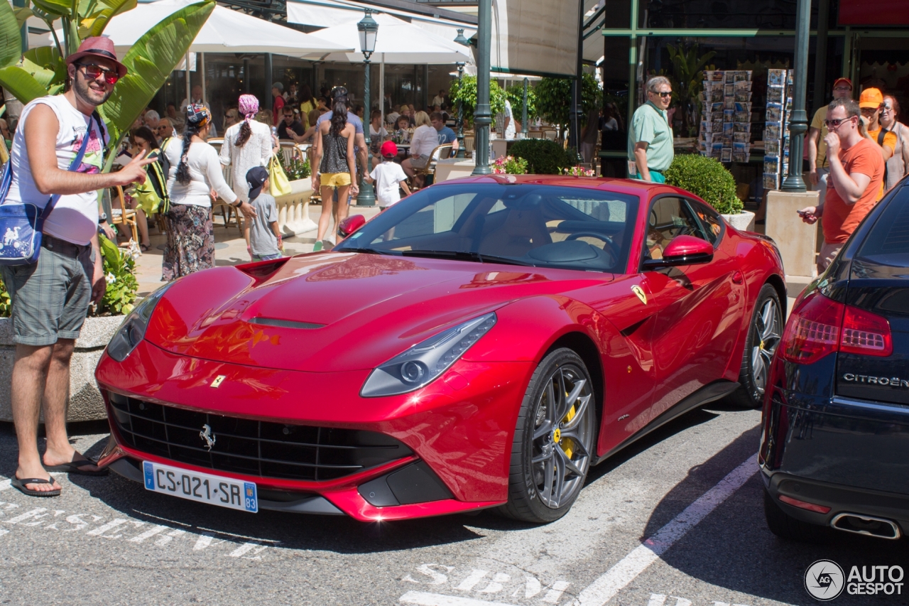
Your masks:
M 884 183 L 884 157 L 874 141 L 859 132 L 861 115 L 852 99 L 834 99 L 827 106 L 827 195 L 823 205 L 798 211 L 809 225 L 818 217 L 823 219 L 824 245 L 817 259 L 818 273 L 830 266 L 855 227 L 874 208 Z

